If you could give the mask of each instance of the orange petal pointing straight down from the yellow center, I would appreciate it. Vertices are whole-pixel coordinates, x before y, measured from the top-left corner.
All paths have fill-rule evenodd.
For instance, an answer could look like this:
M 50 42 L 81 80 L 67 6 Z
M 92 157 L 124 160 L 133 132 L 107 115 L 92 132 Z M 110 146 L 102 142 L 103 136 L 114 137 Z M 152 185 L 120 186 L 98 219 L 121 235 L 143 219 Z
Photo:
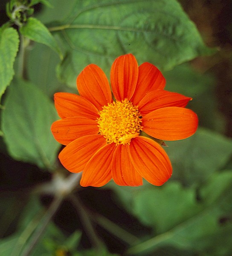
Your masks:
M 119 186 L 142 185 L 142 176 L 131 162 L 129 145 L 117 145 L 112 160 L 112 176 Z

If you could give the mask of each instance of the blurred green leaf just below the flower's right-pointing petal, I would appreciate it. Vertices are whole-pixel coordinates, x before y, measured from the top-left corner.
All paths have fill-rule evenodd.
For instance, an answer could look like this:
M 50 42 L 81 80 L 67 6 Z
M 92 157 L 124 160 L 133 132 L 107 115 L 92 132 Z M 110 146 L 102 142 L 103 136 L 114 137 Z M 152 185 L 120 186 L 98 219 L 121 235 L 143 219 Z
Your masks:
M 203 128 L 186 140 L 166 144 L 165 151 L 173 166 L 172 178 L 188 186 L 206 181 L 223 169 L 232 156 L 232 140 Z

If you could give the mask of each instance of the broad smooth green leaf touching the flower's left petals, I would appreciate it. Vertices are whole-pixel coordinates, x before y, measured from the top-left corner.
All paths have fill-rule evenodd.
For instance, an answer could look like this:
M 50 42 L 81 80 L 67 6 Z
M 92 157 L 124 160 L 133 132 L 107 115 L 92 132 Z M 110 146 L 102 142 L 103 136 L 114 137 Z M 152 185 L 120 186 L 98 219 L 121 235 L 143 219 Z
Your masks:
M 60 147 L 50 131 L 56 119 L 54 105 L 40 90 L 29 82 L 14 80 L 2 113 L 9 154 L 16 160 L 52 169 Z

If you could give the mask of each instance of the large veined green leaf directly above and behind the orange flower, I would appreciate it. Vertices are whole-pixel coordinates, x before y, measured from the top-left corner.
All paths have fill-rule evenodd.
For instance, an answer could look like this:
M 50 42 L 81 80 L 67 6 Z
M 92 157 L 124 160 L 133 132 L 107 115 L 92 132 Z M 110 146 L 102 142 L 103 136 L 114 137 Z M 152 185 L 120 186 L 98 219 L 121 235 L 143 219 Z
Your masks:
M 114 59 L 129 52 L 139 64 L 148 61 L 161 69 L 212 52 L 176 0 L 75 3 L 64 22 L 49 28 L 66 48 L 58 76 L 70 86 L 87 64 L 97 64 L 109 74 Z

